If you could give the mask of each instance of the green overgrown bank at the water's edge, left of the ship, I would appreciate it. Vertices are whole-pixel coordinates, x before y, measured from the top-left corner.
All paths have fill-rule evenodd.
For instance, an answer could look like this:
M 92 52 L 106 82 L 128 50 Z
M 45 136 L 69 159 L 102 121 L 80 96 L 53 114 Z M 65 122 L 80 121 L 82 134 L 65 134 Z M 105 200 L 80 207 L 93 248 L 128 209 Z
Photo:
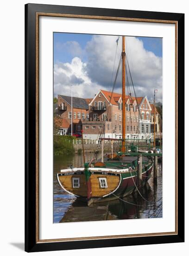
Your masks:
M 74 146 L 72 136 L 54 135 L 54 155 L 72 155 Z

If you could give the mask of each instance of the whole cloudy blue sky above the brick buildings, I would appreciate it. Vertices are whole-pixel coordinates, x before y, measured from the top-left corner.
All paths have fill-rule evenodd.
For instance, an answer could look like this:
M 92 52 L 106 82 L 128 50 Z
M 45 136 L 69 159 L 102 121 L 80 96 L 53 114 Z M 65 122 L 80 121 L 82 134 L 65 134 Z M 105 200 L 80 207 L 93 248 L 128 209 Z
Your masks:
M 118 36 L 54 33 L 54 95 L 92 98 L 99 89 L 112 90 L 120 60 Z M 126 36 L 126 56 L 137 96 L 162 101 L 162 39 Z M 128 72 L 126 91 L 133 94 Z M 121 67 L 115 85 L 121 93 Z

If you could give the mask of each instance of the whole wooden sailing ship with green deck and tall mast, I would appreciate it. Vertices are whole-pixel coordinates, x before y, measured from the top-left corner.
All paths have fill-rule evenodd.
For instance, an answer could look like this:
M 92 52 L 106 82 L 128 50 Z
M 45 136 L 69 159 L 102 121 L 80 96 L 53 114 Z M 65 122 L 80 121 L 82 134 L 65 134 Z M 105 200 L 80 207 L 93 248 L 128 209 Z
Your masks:
M 122 145 L 121 152 L 112 154 L 111 159 L 104 161 L 103 149 L 101 161 L 85 162 L 83 148 L 83 168 L 63 169 L 57 174 L 60 186 L 69 194 L 88 205 L 99 201 L 114 200 L 132 194 L 144 186 L 151 177 L 153 159 L 143 158 L 138 154 L 128 157 L 126 154 L 126 53 L 125 36 L 122 37 Z M 106 140 L 105 138 L 101 138 Z M 103 145 L 103 143 L 101 143 Z M 150 154 L 149 154 L 150 155 Z M 117 156 L 117 157 L 116 157 Z

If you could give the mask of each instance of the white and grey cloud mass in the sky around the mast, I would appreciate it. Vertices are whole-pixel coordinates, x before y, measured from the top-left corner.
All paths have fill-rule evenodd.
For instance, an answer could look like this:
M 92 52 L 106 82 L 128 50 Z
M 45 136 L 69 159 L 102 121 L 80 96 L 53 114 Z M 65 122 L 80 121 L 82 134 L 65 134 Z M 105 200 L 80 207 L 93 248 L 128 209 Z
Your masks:
M 76 53 L 84 52 L 87 61 L 75 57 L 71 63 L 57 63 L 54 66 L 55 94 L 70 95 L 70 84 L 74 86 L 75 96 L 93 97 L 97 91 L 112 88 L 113 64 L 116 51 L 117 36 L 94 35 L 84 50 L 75 44 Z M 73 48 L 73 44 L 72 44 Z M 120 37 L 115 59 L 115 76 L 122 51 Z M 158 89 L 157 101 L 162 101 L 162 58 L 146 51 L 143 42 L 135 37 L 126 37 L 126 55 L 132 73 L 132 80 L 137 96 L 145 96 L 152 100 L 154 88 Z M 75 54 L 76 56 L 76 54 Z M 120 92 L 121 67 L 115 91 Z

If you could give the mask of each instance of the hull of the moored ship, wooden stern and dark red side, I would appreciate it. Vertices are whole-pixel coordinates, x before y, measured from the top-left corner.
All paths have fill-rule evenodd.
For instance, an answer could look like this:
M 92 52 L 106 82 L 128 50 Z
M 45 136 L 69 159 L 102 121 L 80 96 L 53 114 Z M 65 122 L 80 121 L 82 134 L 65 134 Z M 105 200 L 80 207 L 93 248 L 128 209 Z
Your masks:
M 140 187 L 145 186 L 151 177 L 153 163 L 142 169 Z M 130 195 L 139 185 L 137 171 L 132 168 L 122 170 L 110 168 L 89 168 L 90 178 L 85 179 L 84 168 L 75 168 L 71 171 L 62 170 L 57 174 L 60 186 L 69 194 L 75 195 L 79 200 L 88 202 L 105 202 Z M 101 187 L 101 179 L 106 180 L 106 186 Z M 73 181 L 79 181 L 77 188 L 73 188 Z

